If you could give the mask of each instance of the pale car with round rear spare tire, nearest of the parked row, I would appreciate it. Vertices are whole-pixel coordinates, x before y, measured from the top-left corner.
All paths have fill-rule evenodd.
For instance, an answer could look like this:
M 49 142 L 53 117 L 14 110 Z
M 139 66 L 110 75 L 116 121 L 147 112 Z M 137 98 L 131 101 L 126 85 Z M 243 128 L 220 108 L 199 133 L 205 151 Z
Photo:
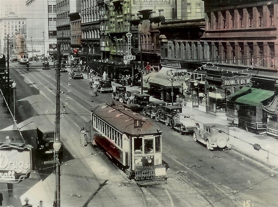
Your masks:
M 229 140 L 229 127 L 222 124 L 196 123 L 193 140 L 205 144 L 208 150 L 224 148 Z

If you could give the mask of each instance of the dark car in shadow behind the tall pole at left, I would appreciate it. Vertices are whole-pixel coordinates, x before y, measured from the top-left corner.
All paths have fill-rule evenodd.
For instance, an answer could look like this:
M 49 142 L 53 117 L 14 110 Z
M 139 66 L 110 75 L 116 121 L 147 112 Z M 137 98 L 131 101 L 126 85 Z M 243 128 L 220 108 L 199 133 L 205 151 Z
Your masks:
M 38 155 L 54 156 L 54 126 L 43 125 L 37 127 L 37 150 Z M 63 144 L 61 147 L 60 158 L 63 157 Z

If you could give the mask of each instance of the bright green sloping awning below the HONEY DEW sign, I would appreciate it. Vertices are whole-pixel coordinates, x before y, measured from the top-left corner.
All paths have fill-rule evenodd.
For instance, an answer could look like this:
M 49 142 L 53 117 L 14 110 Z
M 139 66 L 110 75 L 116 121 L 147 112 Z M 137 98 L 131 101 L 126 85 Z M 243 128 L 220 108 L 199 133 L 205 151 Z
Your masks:
M 238 97 L 235 102 L 251 106 L 258 106 L 261 102 L 274 95 L 274 91 L 270 90 L 262 90 L 257 88 L 251 88 L 251 90 L 251 93 Z

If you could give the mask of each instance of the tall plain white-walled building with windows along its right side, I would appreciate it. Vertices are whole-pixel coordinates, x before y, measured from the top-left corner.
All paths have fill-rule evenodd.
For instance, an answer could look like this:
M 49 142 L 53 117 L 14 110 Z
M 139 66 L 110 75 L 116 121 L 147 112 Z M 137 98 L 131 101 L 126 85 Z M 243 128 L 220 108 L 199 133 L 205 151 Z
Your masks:
M 54 54 L 52 45 L 57 42 L 56 0 L 28 0 L 26 6 L 29 57 Z

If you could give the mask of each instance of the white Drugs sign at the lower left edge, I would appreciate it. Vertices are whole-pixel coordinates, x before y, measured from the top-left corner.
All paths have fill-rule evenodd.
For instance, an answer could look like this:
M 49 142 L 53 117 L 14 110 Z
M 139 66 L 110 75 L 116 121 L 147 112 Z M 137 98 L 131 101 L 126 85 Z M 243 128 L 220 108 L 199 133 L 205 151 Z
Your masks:
M 3 147 L 3 145 L 1 145 Z M 19 183 L 32 171 L 31 148 L 12 146 L 0 150 L 0 182 Z

